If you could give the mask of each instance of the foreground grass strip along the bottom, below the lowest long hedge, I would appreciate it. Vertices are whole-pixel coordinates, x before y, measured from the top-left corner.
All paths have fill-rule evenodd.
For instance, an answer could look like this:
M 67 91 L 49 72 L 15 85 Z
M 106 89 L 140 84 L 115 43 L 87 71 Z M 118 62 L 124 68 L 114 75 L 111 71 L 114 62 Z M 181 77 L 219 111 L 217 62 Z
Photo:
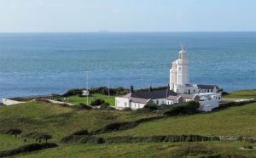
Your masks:
M 154 143 L 154 144 L 72 144 L 20 157 L 195 157 L 202 155 L 256 155 L 240 150 L 244 142 Z M 254 145 L 254 144 L 253 144 Z

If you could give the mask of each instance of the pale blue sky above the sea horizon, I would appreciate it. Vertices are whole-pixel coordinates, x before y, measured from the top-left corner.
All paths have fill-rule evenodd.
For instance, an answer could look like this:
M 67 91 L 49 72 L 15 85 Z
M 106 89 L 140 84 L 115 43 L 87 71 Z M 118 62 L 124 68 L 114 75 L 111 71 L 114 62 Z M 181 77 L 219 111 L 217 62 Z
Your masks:
M 0 0 L 0 32 L 256 31 L 256 0 Z

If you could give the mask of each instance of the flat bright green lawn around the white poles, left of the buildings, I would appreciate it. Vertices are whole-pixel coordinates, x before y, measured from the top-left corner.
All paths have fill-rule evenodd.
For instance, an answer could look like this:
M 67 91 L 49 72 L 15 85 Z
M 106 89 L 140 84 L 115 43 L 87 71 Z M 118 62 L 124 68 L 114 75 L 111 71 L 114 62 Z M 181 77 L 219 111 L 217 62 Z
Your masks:
M 92 94 L 92 96 L 88 97 L 88 103 L 90 104 L 90 102 L 95 99 L 103 99 L 106 102 L 108 102 L 111 106 L 114 106 L 115 97 L 116 96 L 113 96 L 113 95 L 108 97 L 108 95 L 104 95 L 101 93 L 94 93 L 94 94 Z M 81 104 L 81 103 L 86 104 L 87 103 L 87 97 L 70 96 L 70 97 L 67 97 L 66 99 L 67 99 L 68 103 L 72 103 L 72 104 Z M 64 101 L 64 98 L 61 98 L 61 101 Z

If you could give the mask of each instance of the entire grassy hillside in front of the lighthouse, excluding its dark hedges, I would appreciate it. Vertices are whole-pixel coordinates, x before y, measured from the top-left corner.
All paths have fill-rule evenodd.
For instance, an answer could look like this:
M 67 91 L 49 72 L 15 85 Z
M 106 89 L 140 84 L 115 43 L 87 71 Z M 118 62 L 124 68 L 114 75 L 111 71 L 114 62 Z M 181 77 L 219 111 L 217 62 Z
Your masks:
M 200 157 L 200 156 L 256 156 L 256 150 L 241 150 L 245 145 L 256 146 L 245 141 L 207 142 L 162 142 L 119 144 L 68 144 L 61 138 L 80 129 L 94 131 L 113 122 L 137 121 L 142 118 L 161 116 L 162 112 L 119 110 L 81 110 L 36 101 L 26 104 L 0 107 L 0 131 L 12 127 L 20 128 L 21 136 L 32 132 L 53 135 L 49 142 L 59 147 L 20 154 L 20 157 Z M 171 116 L 159 120 L 141 122 L 137 127 L 96 137 L 156 136 L 156 135 L 202 135 L 202 136 L 254 136 L 256 137 L 256 103 L 235 106 L 209 113 L 191 116 Z M 0 152 L 13 150 L 34 139 L 0 134 Z

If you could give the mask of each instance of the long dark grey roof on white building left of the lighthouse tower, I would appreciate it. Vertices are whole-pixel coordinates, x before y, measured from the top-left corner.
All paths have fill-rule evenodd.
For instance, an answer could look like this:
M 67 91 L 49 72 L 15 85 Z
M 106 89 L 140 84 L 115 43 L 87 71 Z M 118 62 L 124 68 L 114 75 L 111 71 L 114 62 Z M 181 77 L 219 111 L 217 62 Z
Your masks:
M 177 93 L 171 90 L 157 90 L 152 92 L 133 92 L 124 96 L 126 99 L 138 98 L 138 99 L 166 99 L 166 96 L 177 95 Z

